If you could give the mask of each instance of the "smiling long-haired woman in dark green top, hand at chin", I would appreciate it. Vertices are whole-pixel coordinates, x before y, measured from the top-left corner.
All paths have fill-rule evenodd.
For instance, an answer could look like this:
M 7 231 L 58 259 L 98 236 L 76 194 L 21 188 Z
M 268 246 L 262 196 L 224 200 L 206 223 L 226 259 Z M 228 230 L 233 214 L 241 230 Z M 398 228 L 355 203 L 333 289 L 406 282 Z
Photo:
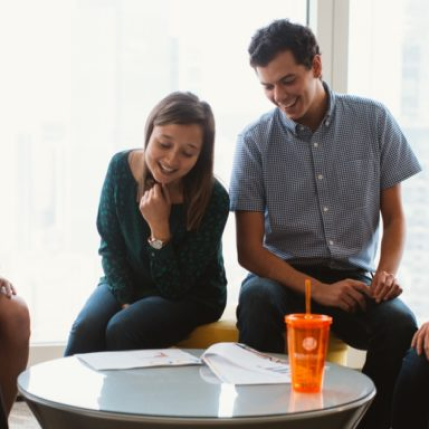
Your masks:
M 99 205 L 101 278 L 65 355 L 162 348 L 218 320 L 229 197 L 213 176 L 210 106 L 175 92 L 150 113 L 143 149 L 116 154 Z

